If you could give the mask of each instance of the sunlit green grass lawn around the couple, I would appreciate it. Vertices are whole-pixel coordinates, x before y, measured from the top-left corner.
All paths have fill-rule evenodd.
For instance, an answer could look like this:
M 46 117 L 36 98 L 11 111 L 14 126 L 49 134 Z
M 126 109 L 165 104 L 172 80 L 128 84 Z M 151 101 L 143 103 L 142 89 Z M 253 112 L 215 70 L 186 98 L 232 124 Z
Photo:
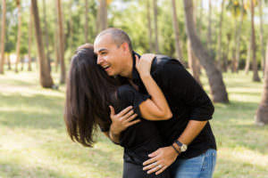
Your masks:
M 214 177 L 268 178 L 268 126 L 254 125 L 263 85 L 251 73 L 224 74 L 224 80 L 230 104 L 215 104 L 211 121 L 218 144 Z M 36 72 L 0 76 L 0 178 L 121 177 L 122 149 L 100 133 L 92 149 L 71 142 L 63 103 L 64 86 L 43 89 Z

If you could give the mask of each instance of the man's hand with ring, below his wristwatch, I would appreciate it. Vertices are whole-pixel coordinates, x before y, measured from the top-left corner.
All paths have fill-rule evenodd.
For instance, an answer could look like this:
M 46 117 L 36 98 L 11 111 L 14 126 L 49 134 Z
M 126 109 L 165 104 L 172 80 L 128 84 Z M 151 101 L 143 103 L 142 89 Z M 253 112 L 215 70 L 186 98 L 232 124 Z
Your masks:
M 143 163 L 143 170 L 148 170 L 147 174 L 155 172 L 156 175 L 161 174 L 168 166 L 172 165 L 178 155 L 172 146 L 155 150 L 148 155 L 150 159 Z

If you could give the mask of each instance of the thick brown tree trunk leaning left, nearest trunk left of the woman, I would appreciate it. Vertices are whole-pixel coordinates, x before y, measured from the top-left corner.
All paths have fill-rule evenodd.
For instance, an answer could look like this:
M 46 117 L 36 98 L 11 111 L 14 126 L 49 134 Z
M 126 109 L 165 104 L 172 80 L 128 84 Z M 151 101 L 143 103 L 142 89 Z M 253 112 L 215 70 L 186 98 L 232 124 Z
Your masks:
M 38 61 L 39 61 L 39 77 L 40 77 L 40 85 L 46 88 L 51 88 L 53 84 L 53 79 L 50 76 L 50 71 L 48 68 L 48 63 L 46 60 L 46 55 L 44 52 L 44 45 L 42 39 L 42 31 L 40 28 L 39 22 L 39 12 L 38 12 L 38 3 L 37 0 L 31 0 L 32 4 L 32 13 L 34 18 L 35 24 L 35 31 L 36 31 L 36 39 L 38 44 Z

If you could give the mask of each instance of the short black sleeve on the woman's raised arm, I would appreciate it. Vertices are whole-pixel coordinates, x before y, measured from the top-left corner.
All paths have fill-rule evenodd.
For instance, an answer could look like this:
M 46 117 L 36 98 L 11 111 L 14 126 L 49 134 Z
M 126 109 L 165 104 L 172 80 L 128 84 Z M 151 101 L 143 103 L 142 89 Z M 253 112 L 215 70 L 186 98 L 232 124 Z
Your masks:
M 131 85 L 121 85 L 117 91 L 120 99 L 120 110 L 133 106 L 134 112 L 141 117 L 139 105 L 151 98 L 149 94 L 138 93 Z

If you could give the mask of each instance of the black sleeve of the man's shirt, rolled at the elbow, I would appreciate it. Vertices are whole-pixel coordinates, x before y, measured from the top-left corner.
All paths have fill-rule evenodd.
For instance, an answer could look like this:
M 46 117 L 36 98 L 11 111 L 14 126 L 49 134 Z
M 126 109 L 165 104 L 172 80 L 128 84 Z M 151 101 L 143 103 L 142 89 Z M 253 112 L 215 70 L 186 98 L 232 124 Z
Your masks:
M 190 108 L 189 120 L 205 121 L 212 119 L 214 105 L 205 93 L 179 61 L 167 61 L 158 76 L 164 81 L 172 97 L 177 97 L 183 104 Z

